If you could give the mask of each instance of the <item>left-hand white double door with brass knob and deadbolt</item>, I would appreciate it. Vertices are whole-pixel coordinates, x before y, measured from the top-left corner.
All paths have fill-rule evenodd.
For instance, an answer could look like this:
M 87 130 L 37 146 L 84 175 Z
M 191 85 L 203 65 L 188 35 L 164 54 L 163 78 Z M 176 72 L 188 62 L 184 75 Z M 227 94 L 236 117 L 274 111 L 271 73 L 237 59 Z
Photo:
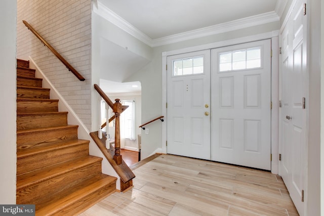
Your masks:
M 210 50 L 167 62 L 167 152 L 210 159 Z

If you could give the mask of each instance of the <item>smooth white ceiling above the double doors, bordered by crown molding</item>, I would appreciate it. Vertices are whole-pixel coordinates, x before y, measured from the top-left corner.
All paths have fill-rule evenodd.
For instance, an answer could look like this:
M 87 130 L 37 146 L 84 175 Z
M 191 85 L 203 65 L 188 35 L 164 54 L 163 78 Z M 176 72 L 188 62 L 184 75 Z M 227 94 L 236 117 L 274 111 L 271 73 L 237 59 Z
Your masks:
M 274 12 L 277 1 L 284 2 L 284 0 L 98 0 L 151 39 Z

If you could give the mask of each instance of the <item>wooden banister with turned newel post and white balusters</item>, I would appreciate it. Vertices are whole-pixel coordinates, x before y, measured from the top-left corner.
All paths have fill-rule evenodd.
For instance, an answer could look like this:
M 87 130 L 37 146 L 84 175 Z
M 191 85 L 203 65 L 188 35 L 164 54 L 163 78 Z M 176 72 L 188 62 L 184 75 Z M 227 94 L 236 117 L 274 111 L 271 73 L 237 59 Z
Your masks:
M 115 119 L 115 154 L 113 156 L 114 161 L 117 163 L 117 165 L 121 164 L 122 158 L 120 155 L 120 126 L 119 126 L 119 116 L 120 114 L 128 108 L 128 106 L 121 105 L 119 99 L 115 99 L 115 103 L 112 103 L 112 101 L 108 98 L 108 96 L 100 89 L 99 85 L 94 84 L 95 90 L 99 93 L 99 95 L 102 97 L 102 99 L 108 104 L 110 108 L 112 108 L 114 112 L 114 116 L 112 116 L 109 120 L 112 121 Z M 101 101 L 101 100 L 100 100 Z M 108 116 L 108 111 L 106 111 Z M 101 107 L 99 106 L 99 129 L 98 129 L 98 137 L 102 139 L 102 128 L 107 125 L 107 119 L 106 119 L 106 125 L 101 125 Z M 107 143 L 108 142 L 108 143 Z M 106 140 L 106 148 L 109 149 L 109 140 Z

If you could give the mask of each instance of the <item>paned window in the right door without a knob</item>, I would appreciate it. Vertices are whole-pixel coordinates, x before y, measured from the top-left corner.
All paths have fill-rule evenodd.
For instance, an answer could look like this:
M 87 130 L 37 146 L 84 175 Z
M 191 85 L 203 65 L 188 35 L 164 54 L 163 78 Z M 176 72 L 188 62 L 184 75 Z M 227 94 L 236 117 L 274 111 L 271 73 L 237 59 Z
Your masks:
M 244 70 L 261 67 L 261 47 L 219 54 L 219 71 Z

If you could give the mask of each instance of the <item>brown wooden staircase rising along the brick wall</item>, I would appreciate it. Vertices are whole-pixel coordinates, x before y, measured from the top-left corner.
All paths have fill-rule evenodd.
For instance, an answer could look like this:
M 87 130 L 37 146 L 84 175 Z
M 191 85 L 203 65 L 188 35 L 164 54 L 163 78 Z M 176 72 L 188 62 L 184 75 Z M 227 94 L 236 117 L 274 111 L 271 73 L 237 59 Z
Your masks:
M 17 204 L 35 204 L 36 215 L 77 215 L 116 191 L 77 127 L 29 61 L 17 60 Z

